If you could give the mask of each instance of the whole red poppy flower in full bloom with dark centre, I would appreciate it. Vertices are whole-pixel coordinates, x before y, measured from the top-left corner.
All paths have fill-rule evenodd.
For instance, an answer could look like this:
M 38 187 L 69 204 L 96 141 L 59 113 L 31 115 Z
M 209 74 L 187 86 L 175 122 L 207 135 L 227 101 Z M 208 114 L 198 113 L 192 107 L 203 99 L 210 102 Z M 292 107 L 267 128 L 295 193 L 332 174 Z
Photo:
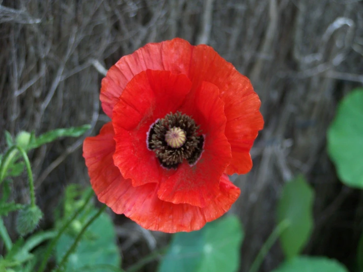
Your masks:
M 200 229 L 240 194 L 227 174 L 250 171 L 263 127 L 250 81 L 211 47 L 151 43 L 102 80 L 112 122 L 84 140 L 98 199 L 150 230 Z

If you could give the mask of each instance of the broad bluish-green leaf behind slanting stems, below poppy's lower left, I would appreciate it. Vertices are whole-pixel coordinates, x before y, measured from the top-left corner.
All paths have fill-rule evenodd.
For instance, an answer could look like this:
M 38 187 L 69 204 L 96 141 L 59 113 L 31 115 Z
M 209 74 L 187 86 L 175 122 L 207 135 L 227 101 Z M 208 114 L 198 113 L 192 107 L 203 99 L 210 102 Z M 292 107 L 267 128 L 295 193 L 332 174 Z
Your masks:
M 56 262 L 59 264 L 64 254 L 72 245 L 75 236 L 63 234 L 56 245 Z M 120 266 L 120 253 L 116 245 L 116 235 L 111 218 L 102 214 L 88 228 L 76 250 L 69 256 L 66 271 L 79 271 L 84 266 L 110 265 Z M 95 272 L 104 272 L 92 269 Z

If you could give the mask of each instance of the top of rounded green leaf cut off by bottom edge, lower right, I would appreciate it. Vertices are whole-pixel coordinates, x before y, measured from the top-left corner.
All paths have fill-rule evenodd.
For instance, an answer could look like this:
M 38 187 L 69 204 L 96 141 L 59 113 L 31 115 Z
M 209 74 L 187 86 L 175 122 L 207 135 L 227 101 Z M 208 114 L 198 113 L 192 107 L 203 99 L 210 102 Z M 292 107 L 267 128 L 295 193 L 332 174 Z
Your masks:
M 299 256 L 282 263 L 273 272 L 348 272 L 348 270 L 333 259 Z

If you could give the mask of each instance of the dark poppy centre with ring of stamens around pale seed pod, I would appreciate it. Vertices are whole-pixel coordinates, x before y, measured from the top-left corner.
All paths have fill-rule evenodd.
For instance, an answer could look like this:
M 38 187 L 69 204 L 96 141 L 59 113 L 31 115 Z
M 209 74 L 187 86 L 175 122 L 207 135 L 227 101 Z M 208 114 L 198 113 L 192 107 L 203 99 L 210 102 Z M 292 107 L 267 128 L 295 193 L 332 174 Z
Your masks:
M 203 151 L 204 137 L 199 126 L 188 115 L 177 111 L 151 125 L 147 147 L 155 152 L 159 162 L 166 168 L 176 169 L 183 160 L 195 164 Z

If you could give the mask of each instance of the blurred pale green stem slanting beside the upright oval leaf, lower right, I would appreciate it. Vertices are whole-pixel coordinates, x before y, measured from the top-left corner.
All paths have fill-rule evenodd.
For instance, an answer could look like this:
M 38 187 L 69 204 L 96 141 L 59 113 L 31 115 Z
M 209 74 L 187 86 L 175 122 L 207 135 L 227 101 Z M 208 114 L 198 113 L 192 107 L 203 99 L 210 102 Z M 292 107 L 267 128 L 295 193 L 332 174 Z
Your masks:
M 275 244 L 276 240 L 279 238 L 281 233 L 290 225 L 289 220 L 285 219 L 276 226 L 274 231 L 267 238 L 266 242 L 262 245 L 260 251 L 258 252 L 256 258 L 254 259 L 250 272 L 257 272 L 260 268 L 263 260 L 265 259 L 270 248 Z

